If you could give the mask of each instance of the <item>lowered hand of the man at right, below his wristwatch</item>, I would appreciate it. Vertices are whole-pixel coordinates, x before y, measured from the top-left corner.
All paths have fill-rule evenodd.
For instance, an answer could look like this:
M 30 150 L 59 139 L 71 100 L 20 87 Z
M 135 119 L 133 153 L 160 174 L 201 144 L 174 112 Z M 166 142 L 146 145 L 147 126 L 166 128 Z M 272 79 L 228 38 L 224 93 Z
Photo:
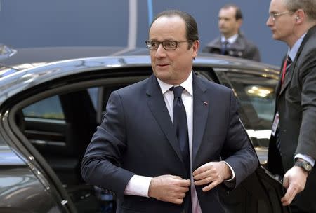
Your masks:
M 305 188 L 308 173 L 301 167 L 294 166 L 284 174 L 283 186 L 287 188 L 287 193 L 281 198 L 282 205 L 291 204 L 295 195 Z

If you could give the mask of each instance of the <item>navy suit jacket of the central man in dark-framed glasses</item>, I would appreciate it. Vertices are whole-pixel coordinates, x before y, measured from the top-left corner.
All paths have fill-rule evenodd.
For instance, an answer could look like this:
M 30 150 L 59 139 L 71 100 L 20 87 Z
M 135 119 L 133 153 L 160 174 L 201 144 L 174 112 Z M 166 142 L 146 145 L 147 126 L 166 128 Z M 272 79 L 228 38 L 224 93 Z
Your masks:
M 256 170 L 258 160 L 239 123 L 235 97 L 230 89 L 195 74 L 192 82 L 192 170 L 219 161 L 222 155 L 235 171 L 237 186 Z M 157 78 L 152 75 L 112 92 L 106 111 L 86 150 L 82 165 L 84 179 L 114 191 L 118 198 L 117 212 L 182 212 L 183 205 L 124 195 L 133 174 L 186 176 L 176 131 Z M 249 162 L 249 158 L 253 160 Z M 202 188 L 197 186 L 202 212 L 223 212 L 218 187 L 206 193 Z

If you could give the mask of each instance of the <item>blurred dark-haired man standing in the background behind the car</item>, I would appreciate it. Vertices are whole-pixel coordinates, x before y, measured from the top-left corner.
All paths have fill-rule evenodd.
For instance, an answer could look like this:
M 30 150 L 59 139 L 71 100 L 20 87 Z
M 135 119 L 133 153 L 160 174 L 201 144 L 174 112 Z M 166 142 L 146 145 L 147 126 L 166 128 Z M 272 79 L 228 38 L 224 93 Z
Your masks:
M 242 11 L 235 4 L 226 4 L 218 14 L 220 37 L 206 44 L 205 53 L 217 53 L 260 61 L 258 47 L 240 32 Z

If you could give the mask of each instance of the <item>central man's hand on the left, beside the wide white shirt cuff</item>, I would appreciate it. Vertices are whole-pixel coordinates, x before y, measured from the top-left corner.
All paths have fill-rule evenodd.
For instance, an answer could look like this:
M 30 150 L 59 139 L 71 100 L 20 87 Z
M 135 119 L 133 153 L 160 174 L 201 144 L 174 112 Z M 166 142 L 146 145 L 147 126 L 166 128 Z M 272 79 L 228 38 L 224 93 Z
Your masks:
M 150 181 L 148 196 L 164 202 L 181 204 L 185 193 L 189 191 L 191 181 L 173 175 L 154 177 Z

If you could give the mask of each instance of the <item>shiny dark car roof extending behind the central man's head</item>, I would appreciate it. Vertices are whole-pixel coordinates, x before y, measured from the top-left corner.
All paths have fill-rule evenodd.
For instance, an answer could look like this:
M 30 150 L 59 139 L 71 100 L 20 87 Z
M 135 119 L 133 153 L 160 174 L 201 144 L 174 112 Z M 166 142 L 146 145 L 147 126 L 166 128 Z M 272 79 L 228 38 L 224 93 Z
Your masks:
M 1 60 L 0 104 L 8 97 L 53 78 L 100 69 L 151 67 L 146 48 L 54 47 L 16 50 Z M 223 55 L 199 53 L 195 67 L 249 69 L 277 74 L 278 67 Z

